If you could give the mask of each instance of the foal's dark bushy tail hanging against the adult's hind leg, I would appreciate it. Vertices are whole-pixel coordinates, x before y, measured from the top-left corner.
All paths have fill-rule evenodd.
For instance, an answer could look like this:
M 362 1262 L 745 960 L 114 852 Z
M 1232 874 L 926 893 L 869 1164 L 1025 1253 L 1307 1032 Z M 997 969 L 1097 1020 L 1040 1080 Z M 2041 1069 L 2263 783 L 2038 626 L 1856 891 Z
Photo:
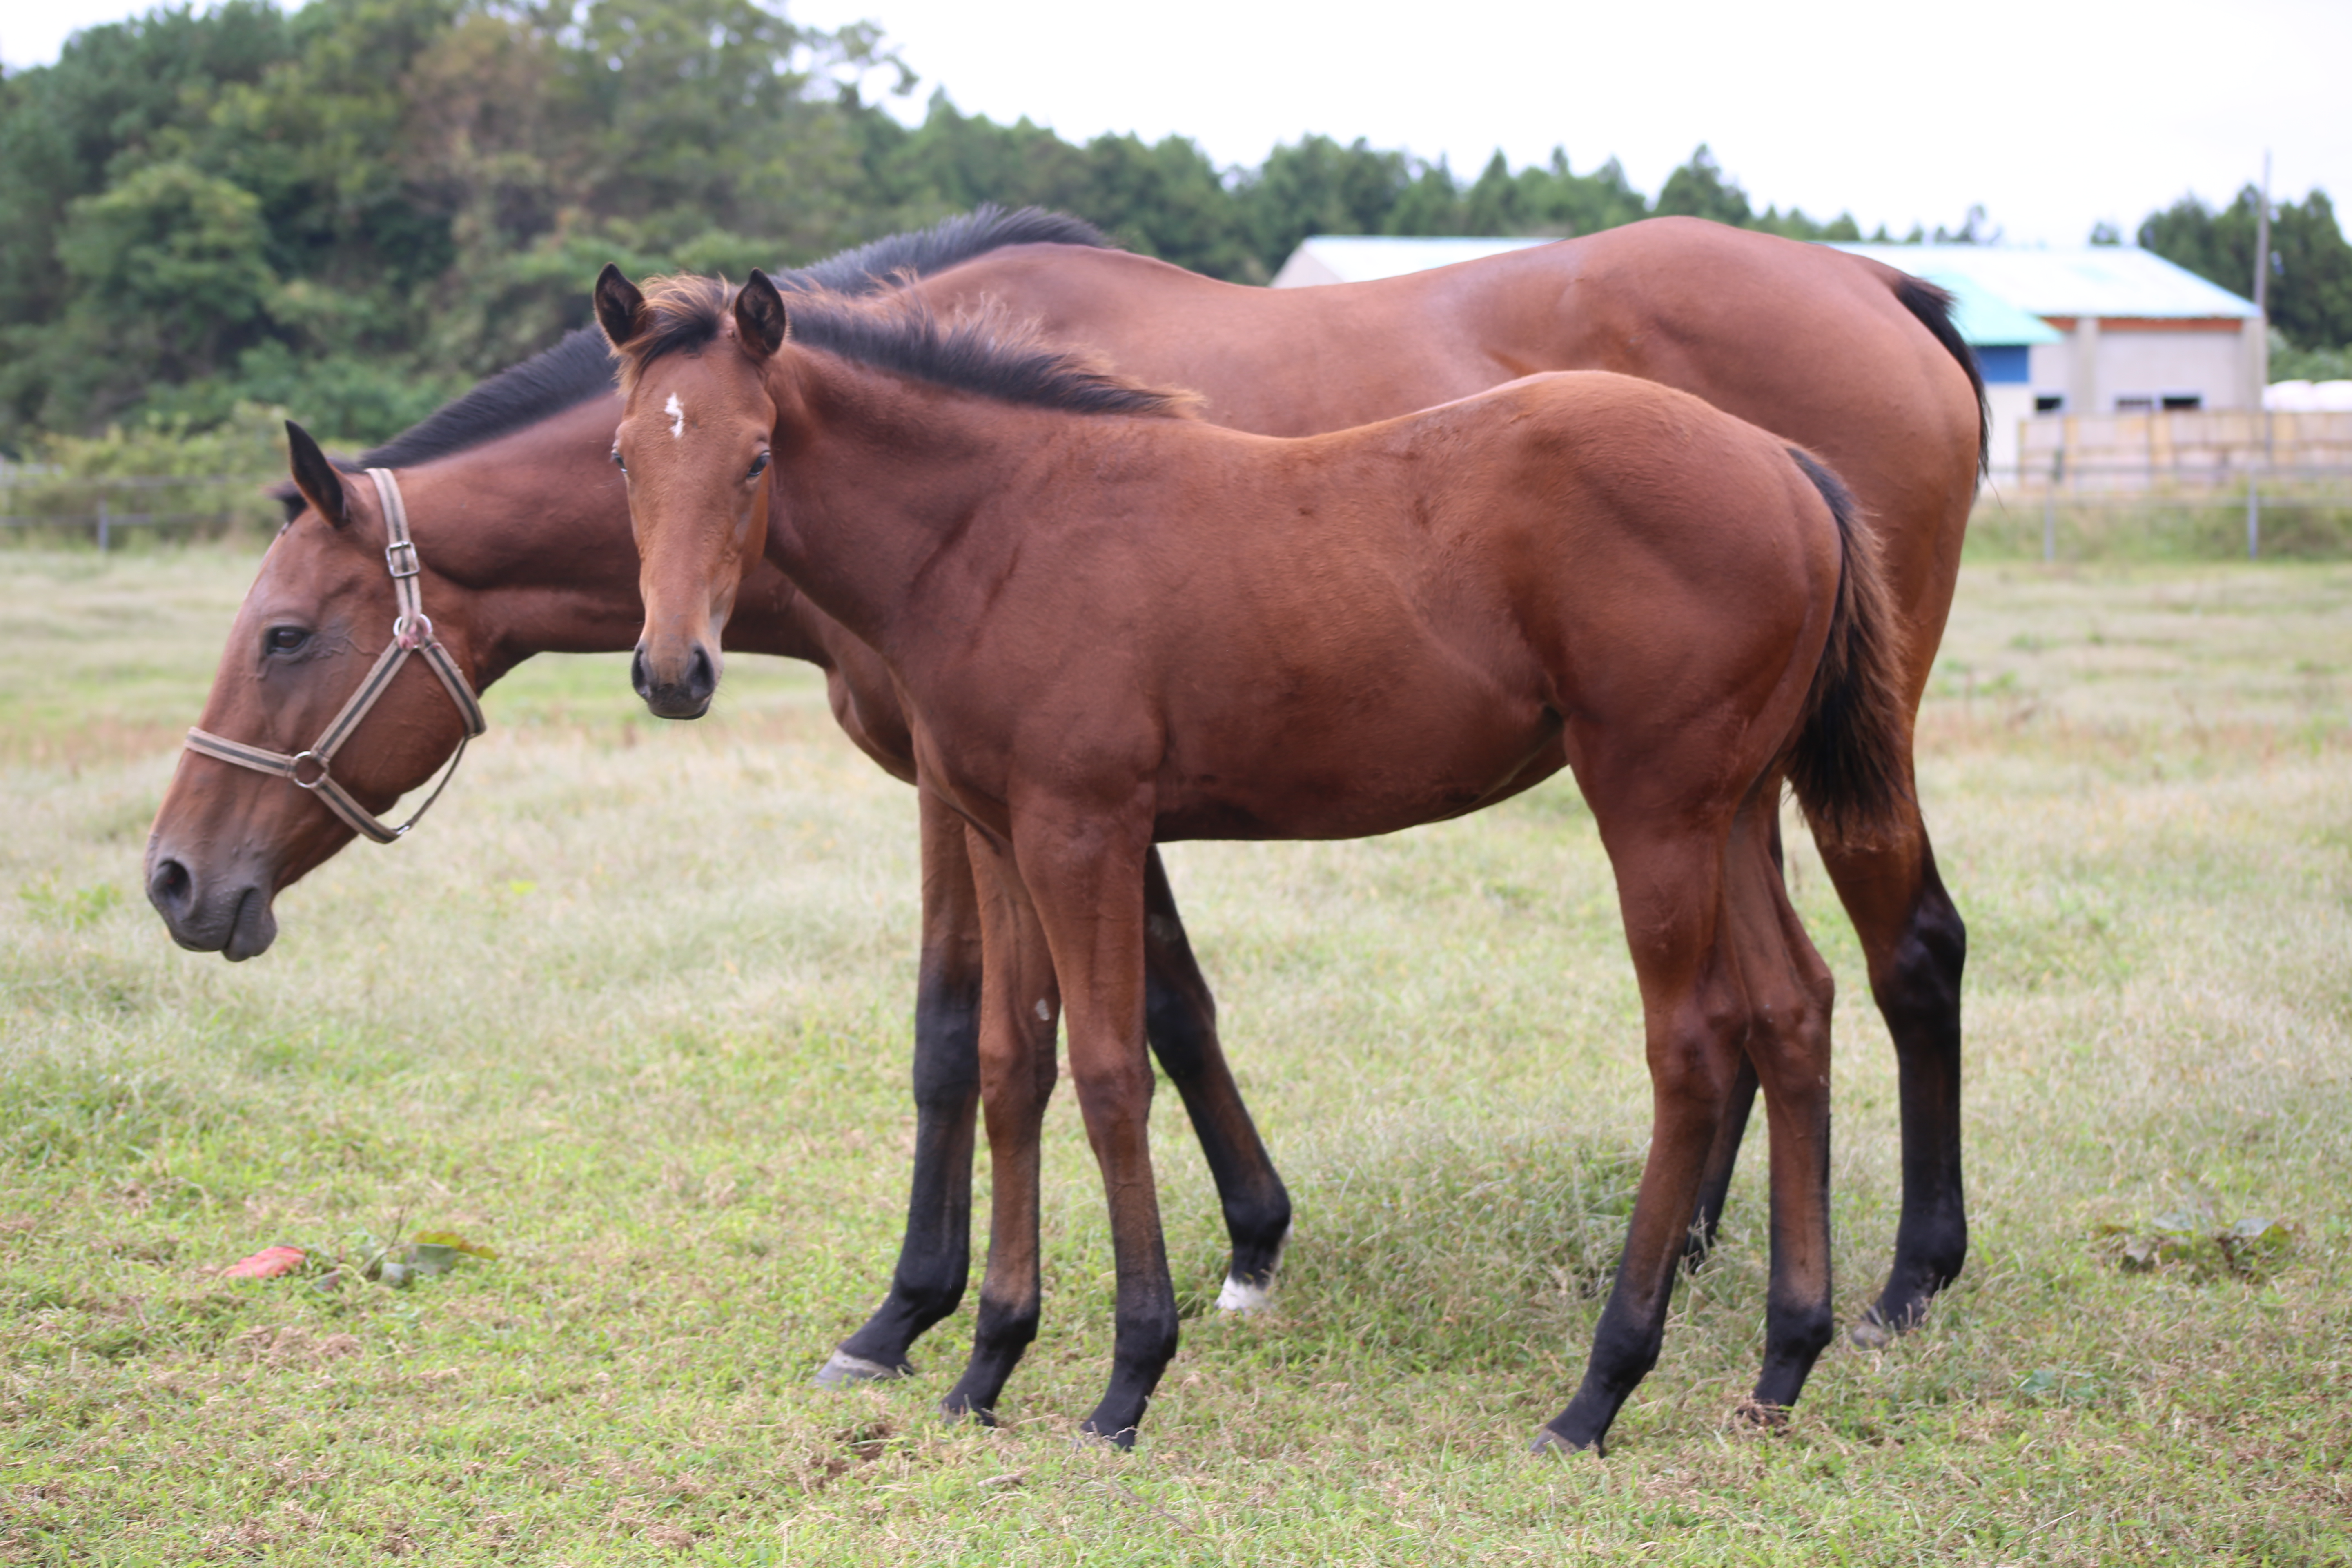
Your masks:
M 1844 557 L 1830 639 L 1804 698 L 1788 778 L 1816 837 L 1879 844 L 1900 827 L 1910 799 L 1910 726 L 1898 679 L 1903 625 L 1877 536 L 1856 515 L 1853 494 L 1809 451 L 1790 447 L 1788 454 L 1830 503 Z

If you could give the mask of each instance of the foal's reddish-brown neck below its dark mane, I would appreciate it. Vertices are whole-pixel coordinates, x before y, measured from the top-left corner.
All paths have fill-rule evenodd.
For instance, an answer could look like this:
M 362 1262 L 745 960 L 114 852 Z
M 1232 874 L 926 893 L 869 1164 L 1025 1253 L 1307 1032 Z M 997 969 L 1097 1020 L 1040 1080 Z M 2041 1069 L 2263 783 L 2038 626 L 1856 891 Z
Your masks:
M 1070 421 L 1091 423 L 816 350 L 779 353 L 767 378 L 779 409 L 767 559 L 887 661 L 927 604 L 1002 576 L 1016 543 L 978 522 L 988 498 Z

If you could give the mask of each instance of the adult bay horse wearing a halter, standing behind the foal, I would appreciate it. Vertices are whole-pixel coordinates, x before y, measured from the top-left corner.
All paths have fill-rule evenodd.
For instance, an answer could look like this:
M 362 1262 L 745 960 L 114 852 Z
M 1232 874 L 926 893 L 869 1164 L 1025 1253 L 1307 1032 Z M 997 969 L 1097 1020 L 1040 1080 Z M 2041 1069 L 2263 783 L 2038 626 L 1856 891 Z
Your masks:
M 1040 313 L 1063 331 L 1091 336 L 1145 378 L 1181 378 L 1218 418 L 1254 421 L 1268 433 L 1298 433 L 1310 416 L 1364 423 L 1526 367 L 1609 364 L 1684 386 L 1828 451 L 1853 475 L 1912 630 L 1910 689 L 1917 693 L 1924 682 L 1966 515 L 1950 494 L 1966 494 L 1973 463 L 1971 388 L 1962 376 L 1969 360 L 1931 289 L 1820 247 L 1689 221 L 1637 223 L 1418 277 L 1279 294 L 1098 247 L 1101 237 L 1073 219 L 981 212 L 861 247 L 804 277 L 830 289 L 875 289 L 908 275 L 920 280 L 913 289 L 922 299 L 943 308 L 1009 301 L 1016 313 Z M 480 628 L 452 632 L 466 649 L 480 649 L 480 684 L 534 651 L 619 649 L 635 639 L 642 616 L 635 576 L 621 555 L 607 555 L 621 552 L 626 538 L 621 489 L 604 465 L 616 418 L 612 362 L 590 329 L 367 454 L 367 463 L 397 468 L 412 489 L 435 602 L 461 592 L 468 614 L 482 616 Z M 273 550 L 256 595 L 270 590 L 289 632 L 334 621 L 360 635 L 390 618 L 381 567 L 362 548 L 374 527 L 365 484 L 358 496 L 360 529 L 327 529 L 308 512 Z M 301 510 L 299 498 L 292 505 Z M 355 609 L 362 604 L 372 609 Z M 259 599 L 249 604 L 259 609 Z M 762 630 L 769 609 L 776 623 Z M 452 625 L 447 609 L 435 614 Z M 750 588 L 729 639 L 833 661 L 844 724 L 863 736 L 861 745 L 894 752 L 891 766 L 910 769 L 896 750 L 903 724 L 887 682 L 858 679 L 854 639 L 840 656 L 849 663 L 837 663 L 826 651 L 835 635 L 795 623 L 802 614 L 790 590 Z M 339 644 L 313 639 L 287 658 L 249 644 L 256 635 L 240 623 L 205 722 L 249 738 L 285 729 L 280 741 L 294 745 L 289 715 L 273 710 L 278 693 L 296 679 L 322 682 L 306 701 L 332 712 L 360 670 L 327 663 Z M 447 715 L 440 698 L 423 701 Z M 428 778 L 445 755 L 430 745 L 452 748 L 456 736 L 447 717 L 405 729 L 402 750 L 381 762 L 369 799 L 388 804 L 400 788 Z M 381 738 L 372 726 L 353 745 L 372 750 Z M 362 766 L 360 750 L 343 755 Z M 348 830 L 285 785 L 193 757 L 158 816 L 151 898 L 183 945 L 247 957 L 270 940 L 273 896 L 343 842 Z M 955 1199 L 962 1187 L 941 1182 L 969 1168 L 978 978 L 969 961 L 976 938 L 960 933 L 976 914 L 969 896 L 955 891 L 964 877 L 955 867 L 962 842 L 953 825 L 938 835 L 927 823 L 929 849 L 950 870 L 924 879 L 908 1237 L 887 1300 L 844 1342 L 835 1371 L 901 1366 L 913 1338 L 962 1293 L 969 1206 Z M 1903 1225 L 1872 1312 L 1900 1326 L 1957 1274 L 1966 1244 L 1962 929 L 1915 816 L 1889 846 L 1830 846 L 1828 858 L 1863 931 L 1903 1072 Z M 1214 1006 L 1181 952 L 1181 924 L 1171 907 L 1160 914 L 1152 931 L 1167 931 L 1174 945 L 1167 966 L 1155 964 L 1152 1039 L 1164 1046 L 1162 1063 L 1195 1119 L 1228 1128 L 1225 1152 L 1211 1152 L 1235 1239 L 1225 1300 L 1249 1302 L 1270 1276 L 1289 1204 L 1247 1131 L 1247 1112 L 1228 1093 Z M 1712 1232 L 1722 1211 L 1750 1093 L 1752 1079 L 1743 1077 L 1700 1204 L 1703 1232 Z

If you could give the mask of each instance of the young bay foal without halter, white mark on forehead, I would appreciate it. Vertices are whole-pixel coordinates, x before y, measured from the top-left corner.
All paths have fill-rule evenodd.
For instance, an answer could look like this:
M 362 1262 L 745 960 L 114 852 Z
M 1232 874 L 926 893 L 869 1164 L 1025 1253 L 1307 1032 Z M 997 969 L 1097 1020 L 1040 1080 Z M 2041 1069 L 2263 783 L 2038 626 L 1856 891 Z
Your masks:
M 1592 809 L 1649 1037 L 1651 1154 L 1576 1399 L 1599 1446 L 1656 1363 L 1740 1063 L 1771 1126 L 1755 1408 L 1832 1335 L 1832 980 L 1773 853 L 1788 776 L 1825 842 L 1898 823 L 1900 625 L 1875 545 L 1799 449 L 1649 381 L 1552 374 L 1308 440 L 1183 418 L 988 315 L 802 296 L 762 273 L 652 296 L 614 268 L 642 555 L 635 684 L 699 717 L 767 557 L 873 646 L 920 788 L 971 823 L 981 1095 L 997 1185 L 1035 1218 L 1065 1011 L 1110 1201 L 1112 1375 L 1131 1443 L 1176 1352 L 1152 1182 L 1143 882 L 1155 842 L 1395 832 L 1562 766 Z M 1002 1215 L 1002 1208 L 1000 1208 Z M 1035 1333 L 1035 1232 L 1000 1225 L 974 1361 L 985 1413 Z

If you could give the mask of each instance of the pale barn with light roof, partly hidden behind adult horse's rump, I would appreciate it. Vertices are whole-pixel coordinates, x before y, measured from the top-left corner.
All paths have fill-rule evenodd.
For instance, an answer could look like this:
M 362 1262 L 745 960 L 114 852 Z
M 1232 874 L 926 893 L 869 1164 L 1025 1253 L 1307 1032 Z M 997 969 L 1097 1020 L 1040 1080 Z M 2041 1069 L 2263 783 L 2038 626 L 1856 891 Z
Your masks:
M 1371 282 L 1543 240 L 1315 235 L 1277 289 Z M 2270 348 L 2253 301 L 2131 244 L 1839 244 L 1957 296 L 1992 402 L 1992 465 L 2034 414 L 2260 409 Z

